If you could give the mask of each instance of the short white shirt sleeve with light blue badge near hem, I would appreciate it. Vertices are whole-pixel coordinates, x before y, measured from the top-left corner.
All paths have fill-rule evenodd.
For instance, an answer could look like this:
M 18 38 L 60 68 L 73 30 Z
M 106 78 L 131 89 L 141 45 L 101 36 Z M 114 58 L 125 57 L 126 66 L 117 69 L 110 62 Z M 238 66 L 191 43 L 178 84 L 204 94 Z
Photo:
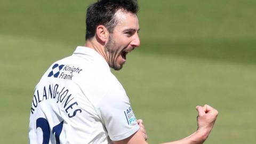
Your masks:
M 129 98 L 119 83 L 111 84 L 98 111 L 109 138 L 113 141 L 126 139 L 139 130 Z

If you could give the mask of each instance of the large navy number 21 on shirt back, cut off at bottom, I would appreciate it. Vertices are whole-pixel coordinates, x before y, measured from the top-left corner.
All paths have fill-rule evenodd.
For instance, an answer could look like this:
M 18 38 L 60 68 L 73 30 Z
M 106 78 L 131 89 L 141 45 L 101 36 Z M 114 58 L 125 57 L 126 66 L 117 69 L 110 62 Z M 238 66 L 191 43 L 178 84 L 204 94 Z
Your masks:
M 42 144 L 49 144 L 50 142 L 50 126 L 45 118 L 38 118 L 36 120 L 36 129 L 40 127 L 43 131 L 43 143 Z M 52 129 L 52 134 L 55 133 L 56 144 L 60 144 L 60 133 L 62 131 L 63 121 L 58 125 L 55 125 Z

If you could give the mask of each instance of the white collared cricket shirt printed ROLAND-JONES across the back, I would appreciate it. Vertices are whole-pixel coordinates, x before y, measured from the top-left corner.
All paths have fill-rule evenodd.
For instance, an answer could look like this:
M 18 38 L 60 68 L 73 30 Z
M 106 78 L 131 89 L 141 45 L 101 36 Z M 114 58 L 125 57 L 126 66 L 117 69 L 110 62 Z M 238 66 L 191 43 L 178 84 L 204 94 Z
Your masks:
M 123 86 L 93 49 L 78 46 L 54 62 L 35 87 L 31 144 L 111 143 L 138 130 Z

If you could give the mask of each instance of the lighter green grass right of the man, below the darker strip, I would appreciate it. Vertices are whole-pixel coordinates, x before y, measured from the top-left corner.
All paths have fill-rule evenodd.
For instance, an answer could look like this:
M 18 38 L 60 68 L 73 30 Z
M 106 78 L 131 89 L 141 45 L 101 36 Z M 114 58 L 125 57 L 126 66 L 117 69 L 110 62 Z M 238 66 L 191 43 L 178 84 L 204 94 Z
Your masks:
M 195 106 L 203 103 L 220 113 L 206 143 L 253 143 L 255 70 L 253 65 L 155 54 L 143 55 L 141 60 L 141 55 L 134 54 L 117 76 L 132 97 L 137 117 L 147 119 L 152 143 L 194 131 Z

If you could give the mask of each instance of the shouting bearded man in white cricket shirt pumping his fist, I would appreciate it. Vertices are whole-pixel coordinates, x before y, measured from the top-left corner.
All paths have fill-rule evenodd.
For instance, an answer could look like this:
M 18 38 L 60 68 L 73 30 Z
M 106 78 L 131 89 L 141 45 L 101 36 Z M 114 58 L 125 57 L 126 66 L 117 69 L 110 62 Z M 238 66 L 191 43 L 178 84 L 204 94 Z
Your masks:
M 54 62 L 31 105 L 30 143 L 147 143 L 122 85 L 111 74 L 140 45 L 137 1 L 100 1 L 89 6 L 85 47 Z M 169 143 L 203 143 L 218 111 L 197 106 L 198 129 Z

